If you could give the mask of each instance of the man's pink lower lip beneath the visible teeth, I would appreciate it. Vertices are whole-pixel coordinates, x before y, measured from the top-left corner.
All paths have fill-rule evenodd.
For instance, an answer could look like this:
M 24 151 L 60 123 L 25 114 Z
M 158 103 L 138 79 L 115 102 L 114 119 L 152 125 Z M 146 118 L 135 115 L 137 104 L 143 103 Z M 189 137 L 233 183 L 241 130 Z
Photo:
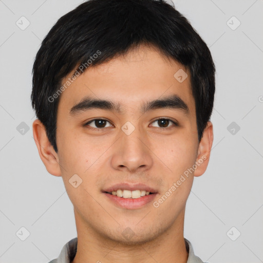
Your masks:
M 141 208 L 143 205 L 153 201 L 157 195 L 157 193 L 154 193 L 151 195 L 141 196 L 139 198 L 124 198 L 116 195 L 111 195 L 108 193 L 103 193 L 103 194 L 105 194 L 111 202 L 114 202 L 118 206 L 121 206 L 122 208 L 126 208 L 126 209 Z

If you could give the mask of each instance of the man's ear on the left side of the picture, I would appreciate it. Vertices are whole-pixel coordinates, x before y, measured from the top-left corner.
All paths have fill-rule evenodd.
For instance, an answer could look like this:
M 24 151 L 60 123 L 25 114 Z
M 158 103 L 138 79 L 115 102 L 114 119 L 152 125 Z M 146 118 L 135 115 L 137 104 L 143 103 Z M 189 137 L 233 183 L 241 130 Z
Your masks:
M 39 119 L 36 119 L 32 124 L 32 128 L 35 144 L 47 171 L 51 175 L 61 176 L 59 157 L 48 140 L 45 126 Z

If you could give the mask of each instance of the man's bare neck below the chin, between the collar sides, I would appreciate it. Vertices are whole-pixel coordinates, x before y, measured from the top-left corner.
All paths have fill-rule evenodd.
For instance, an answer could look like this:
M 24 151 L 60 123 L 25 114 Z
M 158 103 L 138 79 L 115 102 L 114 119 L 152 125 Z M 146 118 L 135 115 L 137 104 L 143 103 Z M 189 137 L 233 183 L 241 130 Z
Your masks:
M 77 254 L 72 263 L 186 263 L 188 252 L 183 238 L 184 211 L 176 222 L 156 238 L 133 245 L 98 234 L 75 212 L 78 232 Z

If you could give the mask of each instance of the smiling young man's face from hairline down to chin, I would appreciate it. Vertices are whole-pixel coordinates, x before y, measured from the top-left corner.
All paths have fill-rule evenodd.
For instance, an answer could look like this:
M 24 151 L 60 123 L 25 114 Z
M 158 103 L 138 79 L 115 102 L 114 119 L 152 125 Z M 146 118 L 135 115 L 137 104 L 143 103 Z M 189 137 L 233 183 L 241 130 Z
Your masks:
M 190 73 L 145 46 L 88 68 L 63 91 L 57 146 L 60 172 L 46 167 L 62 176 L 77 224 L 126 243 L 182 229 L 193 166 L 202 159 L 203 173 L 209 158 L 198 143 Z

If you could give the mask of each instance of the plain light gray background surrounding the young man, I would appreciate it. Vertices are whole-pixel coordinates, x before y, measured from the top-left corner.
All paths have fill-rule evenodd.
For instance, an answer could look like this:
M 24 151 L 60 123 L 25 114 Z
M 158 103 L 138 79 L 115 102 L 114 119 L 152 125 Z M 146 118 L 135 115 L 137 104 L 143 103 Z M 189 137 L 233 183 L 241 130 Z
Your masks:
M 62 178 L 46 171 L 33 140 L 30 92 L 41 41 L 80 3 L 0 1 L 0 262 L 48 262 L 77 236 Z M 263 262 L 263 1 L 174 3 L 210 47 L 217 69 L 211 159 L 194 179 L 184 237 L 203 261 Z M 21 16 L 30 22 L 24 30 L 16 25 L 26 25 Z M 24 241 L 26 230 L 16 235 L 22 227 L 30 233 Z

